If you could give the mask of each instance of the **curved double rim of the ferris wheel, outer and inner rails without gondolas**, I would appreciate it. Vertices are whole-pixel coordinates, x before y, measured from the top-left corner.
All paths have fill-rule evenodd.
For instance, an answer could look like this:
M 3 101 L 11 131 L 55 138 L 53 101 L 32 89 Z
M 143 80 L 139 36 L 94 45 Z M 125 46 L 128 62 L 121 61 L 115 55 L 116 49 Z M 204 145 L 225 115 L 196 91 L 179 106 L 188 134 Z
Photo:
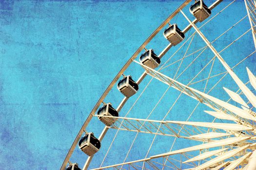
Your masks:
M 132 57 L 126 62 L 126 64 L 123 66 L 123 68 L 121 68 L 121 70 L 118 72 L 118 74 L 116 75 L 116 77 L 112 80 L 112 82 L 110 83 L 110 85 L 107 87 L 107 89 L 104 91 L 104 93 L 102 94 L 102 96 L 99 98 L 98 102 L 96 103 L 96 105 L 94 106 L 93 110 L 91 111 L 91 113 L 89 114 L 89 116 L 87 117 L 87 119 L 85 120 L 84 124 L 82 125 L 81 129 L 79 130 L 78 135 L 76 136 L 71 148 L 69 149 L 60 170 L 65 170 L 65 167 L 72 155 L 72 153 L 74 152 L 76 145 L 79 142 L 79 138 L 82 136 L 85 128 L 87 127 L 87 125 L 89 124 L 89 122 L 91 121 L 91 119 L 93 118 L 93 115 L 95 114 L 95 112 L 97 111 L 99 105 L 101 102 L 103 102 L 103 100 L 105 99 L 105 97 L 107 96 L 107 94 L 109 93 L 109 91 L 112 89 L 112 87 L 116 84 L 116 82 L 118 81 L 118 79 L 120 78 L 120 76 L 123 74 L 123 72 L 130 66 L 130 64 L 133 62 L 133 60 L 138 56 L 138 54 L 146 47 L 146 45 L 155 37 L 156 34 L 158 34 L 158 32 L 163 29 L 163 27 L 173 18 L 177 15 L 177 13 L 179 12 L 180 9 L 183 9 L 191 0 L 185 0 L 185 2 L 183 2 L 176 10 L 175 12 L 173 12 L 169 17 L 167 17 L 167 19 L 165 19 L 165 21 L 163 21 L 161 23 L 161 25 L 158 26 L 158 28 L 145 40 L 145 42 L 138 48 L 137 51 L 135 51 L 135 53 L 132 55 Z M 209 8 L 212 10 L 213 8 L 215 8 L 222 0 L 217 0 L 216 2 L 214 2 Z M 193 21 L 193 23 L 197 23 L 197 19 L 195 19 Z M 190 28 L 192 28 L 192 25 L 188 25 L 183 32 L 186 33 Z M 172 47 L 171 44 L 169 44 L 160 54 L 159 54 L 159 58 L 161 58 L 170 48 Z M 138 79 L 137 83 L 139 84 L 146 76 L 146 72 L 144 72 L 140 78 Z M 128 98 L 124 98 L 122 100 L 122 102 L 119 104 L 118 109 L 120 110 L 122 108 L 122 106 L 124 105 L 124 103 L 128 100 Z M 103 137 L 105 136 L 106 132 L 108 130 L 108 127 L 105 126 L 105 128 L 103 129 L 101 135 L 99 136 L 99 140 L 101 141 L 103 139 Z M 83 170 L 86 170 L 92 160 L 93 156 L 89 156 L 84 167 Z

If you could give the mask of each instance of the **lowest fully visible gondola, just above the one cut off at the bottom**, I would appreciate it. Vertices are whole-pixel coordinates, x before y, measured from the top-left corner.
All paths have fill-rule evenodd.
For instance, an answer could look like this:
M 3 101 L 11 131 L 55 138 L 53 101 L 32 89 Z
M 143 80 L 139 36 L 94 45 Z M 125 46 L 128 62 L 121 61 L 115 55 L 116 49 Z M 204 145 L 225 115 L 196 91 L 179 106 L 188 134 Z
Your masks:
M 79 140 L 79 148 L 88 156 L 92 156 L 98 152 L 100 148 L 100 141 L 92 132 L 86 133 L 86 135 Z

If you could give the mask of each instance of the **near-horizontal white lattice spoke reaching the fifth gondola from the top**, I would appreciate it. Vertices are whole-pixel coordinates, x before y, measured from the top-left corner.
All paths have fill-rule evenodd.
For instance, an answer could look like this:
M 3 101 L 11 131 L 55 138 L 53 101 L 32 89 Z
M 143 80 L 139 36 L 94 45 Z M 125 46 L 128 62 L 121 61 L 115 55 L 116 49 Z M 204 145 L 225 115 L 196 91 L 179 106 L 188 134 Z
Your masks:
M 104 116 L 104 117 L 108 117 L 108 116 Z M 115 126 L 112 125 L 109 128 L 138 132 L 138 133 L 148 133 L 148 134 L 164 135 L 164 136 L 177 136 L 180 138 L 187 138 L 187 139 L 198 140 L 198 141 L 203 141 L 204 139 L 211 139 L 211 138 L 217 138 L 217 137 L 223 137 L 223 136 L 230 136 L 234 134 L 236 131 L 252 130 L 252 128 L 249 128 L 247 126 L 234 124 L 234 123 L 210 123 L 210 122 L 189 122 L 189 121 L 182 122 L 182 121 L 168 121 L 168 120 L 158 121 L 158 120 L 122 118 L 122 117 L 116 117 L 115 119 L 122 119 L 123 122 L 128 122 L 129 124 L 131 124 L 131 126 L 122 125 L 120 127 L 119 125 L 115 125 Z M 143 128 L 140 127 L 140 129 L 138 129 L 138 127 L 140 126 L 140 124 L 142 124 L 142 122 L 147 122 L 147 123 L 144 123 Z M 152 124 L 155 124 L 154 127 L 152 126 L 149 127 Z M 173 124 L 176 124 L 179 126 L 182 125 L 182 128 L 184 131 L 180 132 L 179 128 L 175 127 Z M 184 127 L 184 125 L 187 125 L 189 127 Z M 118 126 L 119 128 L 116 128 Z M 205 134 L 206 131 L 200 127 L 207 127 L 209 129 L 212 129 L 212 131 L 215 131 L 215 132 Z M 161 129 L 162 131 L 158 130 L 158 128 Z M 217 131 L 215 129 L 224 130 L 223 132 L 229 131 L 231 134 L 229 133 L 224 134 L 223 132 L 221 133 L 220 131 Z

